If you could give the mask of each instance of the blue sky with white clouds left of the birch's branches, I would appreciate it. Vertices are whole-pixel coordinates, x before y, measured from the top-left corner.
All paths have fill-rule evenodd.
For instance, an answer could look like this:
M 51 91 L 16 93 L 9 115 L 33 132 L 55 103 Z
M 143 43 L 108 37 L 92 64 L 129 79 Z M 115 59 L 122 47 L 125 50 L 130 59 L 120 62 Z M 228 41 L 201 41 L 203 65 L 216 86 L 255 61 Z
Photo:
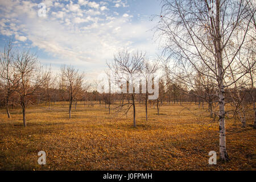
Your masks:
M 0 48 L 12 39 L 53 72 L 72 65 L 92 81 L 119 49 L 159 55 L 159 14 L 159 0 L 0 0 Z

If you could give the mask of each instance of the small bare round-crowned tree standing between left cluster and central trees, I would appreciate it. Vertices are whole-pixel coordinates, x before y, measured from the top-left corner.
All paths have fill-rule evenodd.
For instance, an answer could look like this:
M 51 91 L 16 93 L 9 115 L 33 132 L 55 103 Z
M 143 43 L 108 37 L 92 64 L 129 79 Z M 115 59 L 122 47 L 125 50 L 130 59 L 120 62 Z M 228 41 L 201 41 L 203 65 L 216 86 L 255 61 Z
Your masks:
M 84 73 L 79 73 L 78 69 L 75 69 L 69 65 L 66 67 L 62 65 L 60 68 L 61 87 L 68 92 L 69 100 L 69 118 L 71 118 L 72 102 L 76 99 L 79 93 L 82 92 L 82 84 L 84 79 Z

